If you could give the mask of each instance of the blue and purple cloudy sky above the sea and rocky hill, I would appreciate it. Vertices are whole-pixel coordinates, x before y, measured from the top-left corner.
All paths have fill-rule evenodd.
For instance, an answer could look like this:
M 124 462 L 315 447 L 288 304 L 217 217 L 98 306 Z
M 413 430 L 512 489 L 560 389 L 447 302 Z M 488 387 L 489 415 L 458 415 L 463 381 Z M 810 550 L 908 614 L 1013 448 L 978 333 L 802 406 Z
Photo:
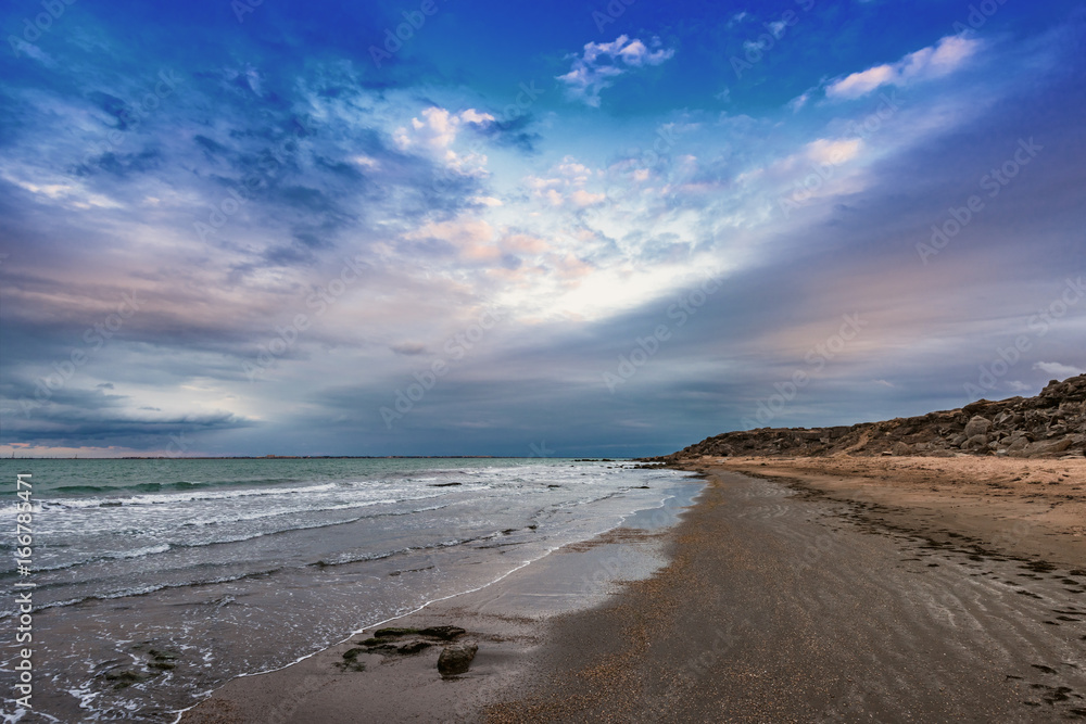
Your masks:
M 0 455 L 659 455 L 1086 370 L 1082 2 L 0 29 Z

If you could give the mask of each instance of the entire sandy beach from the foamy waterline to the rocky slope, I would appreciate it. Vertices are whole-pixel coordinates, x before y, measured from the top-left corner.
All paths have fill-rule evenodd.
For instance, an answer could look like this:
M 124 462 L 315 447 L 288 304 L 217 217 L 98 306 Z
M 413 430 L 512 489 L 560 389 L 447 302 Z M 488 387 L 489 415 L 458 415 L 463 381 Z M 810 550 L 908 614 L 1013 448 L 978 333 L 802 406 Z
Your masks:
M 678 525 L 613 532 L 384 624 L 464 627 L 466 674 L 439 675 L 440 642 L 368 650 L 366 632 L 235 679 L 182 721 L 1086 716 L 1086 460 L 684 467 L 707 486 Z M 564 595 L 593 570 L 607 595 Z

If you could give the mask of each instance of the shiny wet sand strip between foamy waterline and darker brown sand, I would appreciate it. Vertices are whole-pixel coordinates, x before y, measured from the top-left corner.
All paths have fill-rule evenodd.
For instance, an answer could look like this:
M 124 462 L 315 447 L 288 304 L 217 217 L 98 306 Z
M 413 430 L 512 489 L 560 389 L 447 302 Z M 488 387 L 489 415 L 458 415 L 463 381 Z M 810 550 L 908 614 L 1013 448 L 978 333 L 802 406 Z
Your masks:
M 691 477 L 675 485 L 697 486 L 697 490 L 671 495 L 660 506 L 636 510 L 621 524 L 592 538 L 566 544 L 541 558 L 525 561 L 483 586 L 428 601 L 414 611 L 368 625 L 286 666 L 235 677 L 199 703 L 178 712 L 174 721 L 181 724 L 346 722 L 376 717 L 400 721 L 404 716 L 425 716 L 427 712 L 433 714 L 432 721 L 449 721 L 447 711 L 437 713 L 447 706 L 455 708 L 454 721 L 473 721 L 485 698 L 480 698 L 480 690 L 493 694 L 512 683 L 518 660 L 538 645 L 552 619 L 598 605 L 615 594 L 618 574 L 622 580 L 647 577 L 666 563 L 661 541 L 668 530 L 673 530 L 682 512 L 695 504 L 704 491 L 704 480 Z M 400 656 L 375 649 L 356 659 L 344 659 L 344 653 L 357 651 L 358 644 L 375 630 L 390 624 L 419 630 L 460 626 L 467 630 L 462 639 L 479 642 L 480 652 L 468 674 L 451 679 L 437 672 L 442 642 L 432 639 L 424 640 L 429 646 L 418 653 Z M 364 671 L 353 670 L 355 661 Z M 450 697 L 446 685 L 454 682 L 460 690 Z M 364 690 L 357 690 L 358 684 Z M 329 688 L 337 693 L 329 695 Z M 319 703 L 308 698 L 317 690 Z M 405 701 L 407 691 L 411 696 Z M 390 701 L 399 703 L 390 709 Z M 411 710 L 409 716 L 404 706 Z

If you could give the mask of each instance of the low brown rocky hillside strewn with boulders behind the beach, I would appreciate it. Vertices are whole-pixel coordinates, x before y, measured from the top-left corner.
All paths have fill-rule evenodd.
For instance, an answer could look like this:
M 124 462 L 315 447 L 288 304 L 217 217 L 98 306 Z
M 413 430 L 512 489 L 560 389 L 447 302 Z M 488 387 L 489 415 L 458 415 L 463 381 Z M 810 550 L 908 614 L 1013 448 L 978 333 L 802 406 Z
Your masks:
M 1086 455 L 1086 374 L 1052 380 L 1036 397 L 980 399 L 921 417 L 834 428 L 761 428 L 707 437 L 678 453 L 646 460 L 678 462 L 702 456 L 831 455 Z

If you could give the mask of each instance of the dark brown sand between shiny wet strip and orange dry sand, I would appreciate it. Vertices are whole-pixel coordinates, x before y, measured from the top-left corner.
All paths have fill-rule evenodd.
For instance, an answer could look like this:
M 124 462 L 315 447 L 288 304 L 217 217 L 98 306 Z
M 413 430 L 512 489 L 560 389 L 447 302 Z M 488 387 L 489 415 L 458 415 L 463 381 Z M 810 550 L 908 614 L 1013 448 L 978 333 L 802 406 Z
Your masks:
M 805 474 L 780 458 L 741 463 L 759 478 L 727 458 L 683 466 L 711 484 L 675 530 L 672 563 L 558 622 L 539 683 L 485 721 L 1086 717 L 1081 552 L 1071 568 L 1027 557 L 1028 536 L 1001 550 L 980 532 L 931 539 L 931 510 L 904 499 L 893 475 L 881 492 L 901 505 L 881 521 L 887 500 L 811 494 L 766 477 L 774 462 Z M 927 505 L 939 503 L 960 505 Z

